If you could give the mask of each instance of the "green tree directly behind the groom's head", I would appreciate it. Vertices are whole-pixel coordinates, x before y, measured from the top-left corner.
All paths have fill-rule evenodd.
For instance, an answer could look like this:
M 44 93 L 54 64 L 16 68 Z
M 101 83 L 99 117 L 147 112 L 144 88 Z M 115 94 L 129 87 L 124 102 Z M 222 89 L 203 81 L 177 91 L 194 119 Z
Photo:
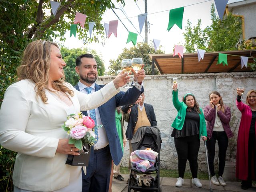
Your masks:
M 75 67 L 76 67 L 76 58 L 82 54 L 91 53 L 93 54 L 98 68 L 98 76 L 103 76 L 105 72 L 104 62 L 102 61 L 101 56 L 97 54 L 95 50 L 90 50 L 89 48 L 84 49 L 68 49 L 68 48 L 61 48 L 61 54 L 63 60 L 66 62 L 67 66 L 64 68 L 66 82 L 69 82 L 73 86 L 78 83 L 79 76 L 76 74 Z

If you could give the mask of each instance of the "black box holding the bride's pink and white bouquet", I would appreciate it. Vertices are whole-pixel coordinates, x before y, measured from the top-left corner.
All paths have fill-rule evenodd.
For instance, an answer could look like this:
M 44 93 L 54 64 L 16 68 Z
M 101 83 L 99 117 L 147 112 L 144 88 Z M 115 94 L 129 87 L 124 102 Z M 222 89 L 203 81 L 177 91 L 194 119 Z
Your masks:
M 84 144 L 82 150 L 79 150 L 80 155 L 68 155 L 66 164 L 71 166 L 88 166 L 90 160 L 90 145 Z

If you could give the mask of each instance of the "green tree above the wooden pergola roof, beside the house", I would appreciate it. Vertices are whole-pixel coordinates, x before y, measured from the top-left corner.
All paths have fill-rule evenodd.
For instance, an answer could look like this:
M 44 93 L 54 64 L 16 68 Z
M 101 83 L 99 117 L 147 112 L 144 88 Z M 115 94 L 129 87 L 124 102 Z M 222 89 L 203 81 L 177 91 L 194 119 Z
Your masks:
M 188 20 L 184 47 L 186 52 L 196 52 L 196 48 L 208 51 L 237 50 L 236 47 L 242 36 L 242 20 L 233 14 L 228 14 L 221 21 L 215 14 L 214 4 L 211 7 L 212 24 L 204 30 L 201 29 L 201 20 L 192 27 Z

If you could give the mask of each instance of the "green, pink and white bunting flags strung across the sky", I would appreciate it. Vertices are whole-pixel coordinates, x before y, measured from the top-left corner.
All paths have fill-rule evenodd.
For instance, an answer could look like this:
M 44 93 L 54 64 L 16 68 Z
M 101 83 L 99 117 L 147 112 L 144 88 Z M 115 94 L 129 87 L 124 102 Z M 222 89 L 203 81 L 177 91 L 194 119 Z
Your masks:
M 215 2 L 215 6 L 216 6 L 216 9 L 218 12 L 218 16 L 219 16 L 220 20 L 222 20 L 226 5 L 228 4 L 228 0 L 214 0 L 214 2 Z M 58 8 L 61 5 L 59 2 L 55 2 L 55 1 L 50 1 L 50 4 L 52 7 L 52 14 L 54 14 L 54 16 L 55 16 L 58 11 Z M 171 9 L 169 11 L 169 22 L 168 22 L 168 27 L 167 27 L 168 31 L 170 31 L 171 28 L 175 24 L 182 30 L 184 7 Z M 139 23 L 140 33 L 142 32 L 142 28 L 145 24 L 147 15 L 148 15 L 147 13 L 138 15 L 138 23 Z M 76 30 L 77 30 L 78 24 L 80 24 L 80 26 L 82 28 L 84 28 L 84 25 L 86 23 L 86 18 L 87 18 L 86 14 L 76 12 L 74 24 L 70 25 L 70 37 L 72 35 L 74 35 L 74 37 L 76 37 Z M 96 22 L 88 22 L 90 37 L 92 36 L 92 31 L 93 31 L 95 23 Z M 117 37 L 117 27 L 118 27 L 118 20 L 111 20 L 111 21 L 109 21 L 109 23 L 104 22 L 106 37 L 110 38 L 111 34 L 114 34 L 114 36 Z M 137 38 L 138 38 L 137 33 L 128 31 L 128 38 L 127 38 L 126 43 L 132 42 L 132 44 L 135 46 L 137 43 Z M 158 50 L 158 48 L 160 46 L 160 40 L 153 38 L 153 44 L 154 44 L 155 51 Z M 183 57 L 183 51 L 184 51 L 183 46 L 175 45 L 173 56 L 178 54 L 178 56 L 181 58 L 181 57 Z M 198 62 L 200 62 L 201 59 L 202 60 L 204 59 L 205 52 L 206 52 L 205 50 L 197 49 Z M 247 67 L 248 57 L 244 57 L 244 56 L 240 56 L 240 57 L 241 57 L 242 68 L 244 66 Z M 223 66 L 228 65 L 227 54 L 219 53 L 217 64 L 221 64 L 221 63 L 223 64 Z

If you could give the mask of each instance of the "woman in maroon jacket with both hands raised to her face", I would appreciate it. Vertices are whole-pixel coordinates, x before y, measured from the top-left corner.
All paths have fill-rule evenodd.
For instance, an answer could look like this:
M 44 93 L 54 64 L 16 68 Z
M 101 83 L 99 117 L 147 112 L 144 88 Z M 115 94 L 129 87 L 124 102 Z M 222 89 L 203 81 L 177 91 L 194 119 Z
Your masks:
M 204 117 L 207 120 L 207 137 L 206 141 L 209 153 L 209 168 L 212 175 L 211 181 L 215 185 L 226 186 L 226 182 L 222 178 L 226 162 L 226 151 L 228 148 L 228 138 L 233 136 L 230 129 L 230 108 L 223 104 L 222 97 L 217 91 L 209 94 L 210 105 L 204 108 Z M 218 178 L 214 172 L 214 155 L 215 144 L 218 141 L 219 146 L 219 171 Z

